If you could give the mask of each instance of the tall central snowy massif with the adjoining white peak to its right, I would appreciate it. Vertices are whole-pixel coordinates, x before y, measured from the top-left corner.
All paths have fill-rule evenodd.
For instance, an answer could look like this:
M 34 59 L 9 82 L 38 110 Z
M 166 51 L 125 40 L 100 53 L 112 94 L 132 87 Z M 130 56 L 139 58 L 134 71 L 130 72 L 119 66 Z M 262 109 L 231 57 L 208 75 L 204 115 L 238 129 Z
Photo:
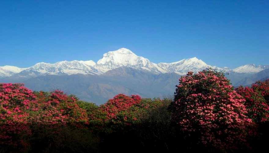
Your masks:
M 105 73 L 111 69 L 116 69 L 121 66 L 131 67 L 135 69 L 144 69 L 152 73 L 178 73 L 184 75 L 189 71 L 198 72 L 208 67 L 217 68 L 215 66 L 207 65 L 202 60 L 195 58 L 183 59 L 173 63 L 159 63 L 150 62 L 147 58 L 137 56 L 131 50 L 121 48 L 115 51 L 109 51 L 103 55 L 94 67 L 100 73 Z M 221 69 L 221 68 L 217 68 Z

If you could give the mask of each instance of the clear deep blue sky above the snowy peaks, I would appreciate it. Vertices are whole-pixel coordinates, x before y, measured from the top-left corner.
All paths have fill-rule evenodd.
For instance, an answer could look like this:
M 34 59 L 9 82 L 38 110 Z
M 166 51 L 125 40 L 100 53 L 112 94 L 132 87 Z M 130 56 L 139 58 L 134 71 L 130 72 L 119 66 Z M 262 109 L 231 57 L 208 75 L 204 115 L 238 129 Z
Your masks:
M 0 66 L 97 62 L 122 47 L 155 63 L 269 65 L 269 1 L 0 1 Z

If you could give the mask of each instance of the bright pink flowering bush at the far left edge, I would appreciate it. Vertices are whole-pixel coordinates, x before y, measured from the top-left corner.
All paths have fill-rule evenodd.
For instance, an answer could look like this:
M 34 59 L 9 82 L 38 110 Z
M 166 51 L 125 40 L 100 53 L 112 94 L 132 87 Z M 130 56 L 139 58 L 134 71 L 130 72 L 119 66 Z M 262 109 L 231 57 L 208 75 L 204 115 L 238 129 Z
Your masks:
M 23 84 L 0 84 L 0 147 L 23 148 L 22 139 L 31 135 L 29 112 L 37 111 L 33 92 Z

